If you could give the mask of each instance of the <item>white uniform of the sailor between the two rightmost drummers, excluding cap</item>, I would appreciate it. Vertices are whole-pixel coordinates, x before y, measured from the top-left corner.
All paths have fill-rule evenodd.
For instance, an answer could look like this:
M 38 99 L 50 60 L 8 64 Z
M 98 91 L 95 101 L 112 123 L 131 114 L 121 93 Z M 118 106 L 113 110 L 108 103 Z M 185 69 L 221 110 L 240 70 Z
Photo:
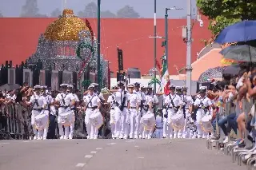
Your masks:
M 185 105 L 185 126 L 183 128 L 183 138 L 188 138 L 190 128 L 188 128 L 188 125 L 190 124 L 190 110 L 189 107 L 190 105 L 193 105 L 194 101 L 190 95 L 182 95 L 181 96 L 182 101 L 183 101 L 183 106 Z

